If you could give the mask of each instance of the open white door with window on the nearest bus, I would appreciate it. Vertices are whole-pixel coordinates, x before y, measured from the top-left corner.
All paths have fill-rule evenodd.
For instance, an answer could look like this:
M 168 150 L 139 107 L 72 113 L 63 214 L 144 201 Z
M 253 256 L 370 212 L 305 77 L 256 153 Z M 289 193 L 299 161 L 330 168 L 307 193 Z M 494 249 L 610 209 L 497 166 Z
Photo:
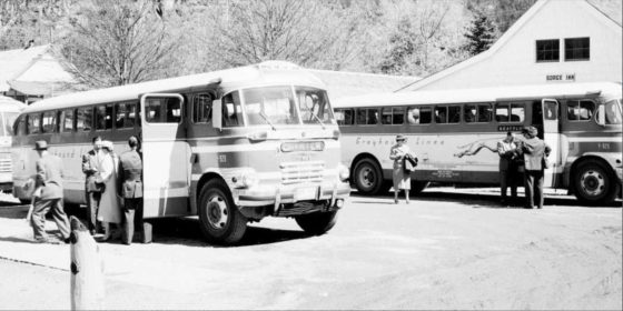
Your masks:
M 188 214 L 190 147 L 184 98 L 151 93 L 140 99 L 144 217 Z

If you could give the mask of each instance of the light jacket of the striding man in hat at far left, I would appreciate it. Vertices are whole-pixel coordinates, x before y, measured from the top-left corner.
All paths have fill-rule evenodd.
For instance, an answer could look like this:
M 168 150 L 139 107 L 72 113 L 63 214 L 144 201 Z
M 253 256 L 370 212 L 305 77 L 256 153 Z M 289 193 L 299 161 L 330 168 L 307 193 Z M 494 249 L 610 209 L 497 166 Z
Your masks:
M 41 188 L 41 200 L 62 199 L 62 162 L 53 154 L 37 160 L 37 188 Z

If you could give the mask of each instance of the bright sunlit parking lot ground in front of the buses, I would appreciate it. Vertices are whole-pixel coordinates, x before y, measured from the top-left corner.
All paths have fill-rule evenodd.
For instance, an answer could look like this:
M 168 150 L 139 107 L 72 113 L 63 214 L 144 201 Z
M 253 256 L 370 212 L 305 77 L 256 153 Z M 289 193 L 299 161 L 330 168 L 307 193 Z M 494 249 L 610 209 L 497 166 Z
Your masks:
M 152 244 L 100 244 L 106 307 L 622 309 L 620 201 L 497 201 L 494 190 L 429 189 L 408 205 L 355 194 L 326 235 L 266 219 L 230 248 L 206 244 L 196 219 L 161 220 Z M 24 215 L 0 207 L 0 309 L 68 309 L 70 247 L 30 243 Z

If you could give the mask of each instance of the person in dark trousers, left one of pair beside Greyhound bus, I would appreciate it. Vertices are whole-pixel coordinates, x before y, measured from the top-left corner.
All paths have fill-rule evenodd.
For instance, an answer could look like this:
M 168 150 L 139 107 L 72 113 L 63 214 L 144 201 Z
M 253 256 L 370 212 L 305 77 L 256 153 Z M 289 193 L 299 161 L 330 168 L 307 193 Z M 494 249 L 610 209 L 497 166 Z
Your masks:
M 515 158 L 517 143 L 513 132 L 506 132 L 506 138 L 497 142 L 497 154 L 500 156 L 500 191 L 502 204 L 507 204 L 506 190 L 511 188 L 511 199 L 517 199 L 517 165 Z

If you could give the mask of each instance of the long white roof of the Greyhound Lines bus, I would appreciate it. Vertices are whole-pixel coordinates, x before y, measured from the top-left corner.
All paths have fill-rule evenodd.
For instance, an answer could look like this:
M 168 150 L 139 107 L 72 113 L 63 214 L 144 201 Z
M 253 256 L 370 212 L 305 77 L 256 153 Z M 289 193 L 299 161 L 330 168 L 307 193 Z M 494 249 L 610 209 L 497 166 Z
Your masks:
M 370 93 L 345 97 L 333 102 L 334 108 L 387 107 L 403 104 L 439 104 L 494 102 L 505 100 L 527 100 L 534 98 L 566 98 L 589 94 L 621 97 L 621 83 L 592 82 L 565 84 L 538 84 L 520 87 L 498 87 L 483 89 L 455 89 L 414 92 Z

